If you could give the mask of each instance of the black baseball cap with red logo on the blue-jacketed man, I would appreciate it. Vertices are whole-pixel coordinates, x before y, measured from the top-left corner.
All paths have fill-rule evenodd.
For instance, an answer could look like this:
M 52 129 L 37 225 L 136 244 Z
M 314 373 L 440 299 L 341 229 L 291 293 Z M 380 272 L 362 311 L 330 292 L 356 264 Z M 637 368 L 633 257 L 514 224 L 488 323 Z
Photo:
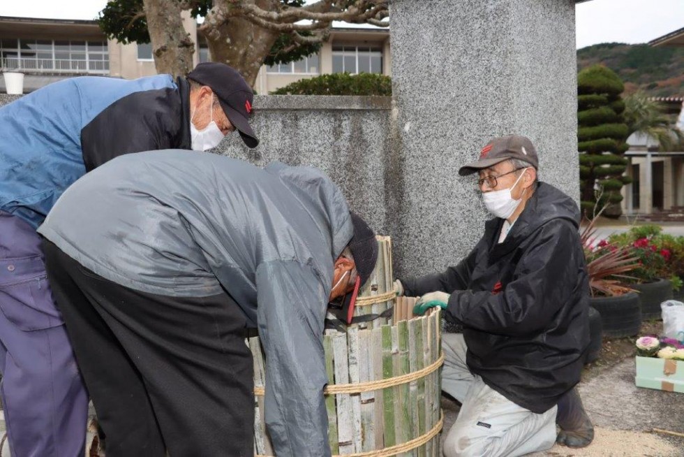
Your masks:
M 188 78 L 211 87 L 221 103 L 225 117 L 240 133 L 244 144 L 257 147 L 259 139 L 249 125 L 254 92 L 240 73 L 221 62 L 202 62 L 188 73 Z

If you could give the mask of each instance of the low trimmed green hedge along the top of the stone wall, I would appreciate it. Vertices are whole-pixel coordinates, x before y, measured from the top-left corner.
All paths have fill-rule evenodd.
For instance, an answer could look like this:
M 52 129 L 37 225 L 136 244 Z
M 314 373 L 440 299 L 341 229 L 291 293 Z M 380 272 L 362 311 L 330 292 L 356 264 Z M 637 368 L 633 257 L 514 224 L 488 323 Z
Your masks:
M 274 95 L 392 95 L 392 78 L 375 73 L 332 73 L 292 82 Z

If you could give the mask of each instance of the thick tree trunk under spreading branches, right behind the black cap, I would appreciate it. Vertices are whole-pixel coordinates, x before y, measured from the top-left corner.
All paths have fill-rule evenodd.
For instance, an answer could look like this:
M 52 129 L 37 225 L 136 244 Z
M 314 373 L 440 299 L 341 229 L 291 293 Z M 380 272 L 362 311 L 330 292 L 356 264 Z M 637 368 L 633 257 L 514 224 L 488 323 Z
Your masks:
M 232 66 L 252 87 L 259 68 L 280 35 L 238 17 L 230 18 L 219 27 L 205 21 L 200 32 L 207 38 L 211 60 Z

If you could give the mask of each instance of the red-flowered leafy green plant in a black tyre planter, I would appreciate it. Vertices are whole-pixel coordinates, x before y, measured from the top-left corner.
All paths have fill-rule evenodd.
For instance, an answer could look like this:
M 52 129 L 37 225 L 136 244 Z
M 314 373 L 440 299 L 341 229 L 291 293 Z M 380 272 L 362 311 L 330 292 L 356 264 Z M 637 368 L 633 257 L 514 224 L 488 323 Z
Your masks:
M 620 247 L 629 247 L 637 258 L 637 268 L 627 282 L 639 292 L 643 319 L 660 319 L 660 303 L 672 299 L 673 284 L 679 286 L 678 278 L 671 274 L 671 251 L 662 247 L 661 230 L 655 225 L 635 226 L 609 238 Z

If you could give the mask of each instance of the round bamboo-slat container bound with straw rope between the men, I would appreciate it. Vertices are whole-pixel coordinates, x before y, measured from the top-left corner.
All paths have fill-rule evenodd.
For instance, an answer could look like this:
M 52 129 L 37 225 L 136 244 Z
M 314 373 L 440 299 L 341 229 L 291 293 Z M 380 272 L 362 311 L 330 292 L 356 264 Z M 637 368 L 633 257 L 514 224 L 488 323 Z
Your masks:
M 323 336 L 328 436 L 334 456 L 440 456 L 440 310 L 412 315 L 415 298 L 393 291 L 392 243 L 378 237 L 378 263 L 355 315 L 394 316 L 327 330 Z M 360 303 L 360 306 L 359 306 Z M 255 456 L 274 456 L 263 421 L 265 379 L 258 337 L 248 341 L 254 357 Z

